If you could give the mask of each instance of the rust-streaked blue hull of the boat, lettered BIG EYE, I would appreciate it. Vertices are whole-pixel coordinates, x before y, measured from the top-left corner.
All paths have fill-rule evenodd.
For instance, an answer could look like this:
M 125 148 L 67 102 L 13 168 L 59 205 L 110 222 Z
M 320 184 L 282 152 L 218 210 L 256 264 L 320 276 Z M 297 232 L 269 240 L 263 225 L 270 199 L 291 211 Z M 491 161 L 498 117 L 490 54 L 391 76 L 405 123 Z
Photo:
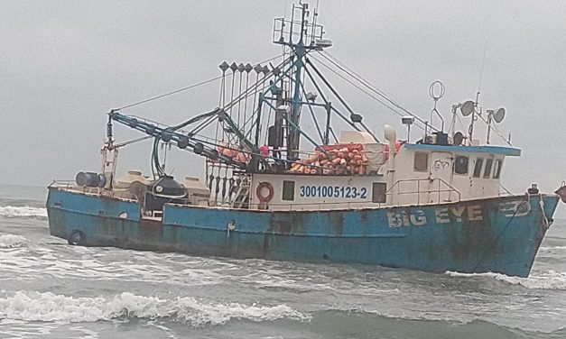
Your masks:
M 558 199 L 294 212 L 167 205 L 160 222 L 135 202 L 50 188 L 47 211 L 51 235 L 79 231 L 87 246 L 526 277 Z

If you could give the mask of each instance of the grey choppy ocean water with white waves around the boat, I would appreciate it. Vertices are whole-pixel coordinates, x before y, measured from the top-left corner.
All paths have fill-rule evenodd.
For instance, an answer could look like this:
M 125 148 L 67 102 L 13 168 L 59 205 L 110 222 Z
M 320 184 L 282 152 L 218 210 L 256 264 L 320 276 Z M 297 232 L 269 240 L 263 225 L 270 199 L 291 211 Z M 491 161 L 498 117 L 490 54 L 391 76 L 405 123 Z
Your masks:
M 566 221 L 529 278 L 70 246 L 0 186 L 0 338 L 566 338 Z

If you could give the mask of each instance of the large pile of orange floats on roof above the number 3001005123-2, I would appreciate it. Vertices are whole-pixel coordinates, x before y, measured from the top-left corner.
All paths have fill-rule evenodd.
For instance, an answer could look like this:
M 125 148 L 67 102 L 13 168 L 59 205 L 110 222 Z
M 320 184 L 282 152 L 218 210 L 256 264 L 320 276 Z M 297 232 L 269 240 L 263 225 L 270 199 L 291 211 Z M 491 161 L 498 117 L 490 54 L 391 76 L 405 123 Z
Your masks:
M 290 173 L 322 175 L 364 175 L 367 173 L 367 155 L 359 143 L 322 146 L 305 160 L 292 164 Z

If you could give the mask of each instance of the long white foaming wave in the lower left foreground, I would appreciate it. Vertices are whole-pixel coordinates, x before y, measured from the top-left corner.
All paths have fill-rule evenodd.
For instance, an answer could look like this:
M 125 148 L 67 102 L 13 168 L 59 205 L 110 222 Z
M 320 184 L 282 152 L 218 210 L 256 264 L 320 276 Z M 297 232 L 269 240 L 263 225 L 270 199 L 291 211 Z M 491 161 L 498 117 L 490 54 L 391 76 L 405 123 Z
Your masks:
M 255 322 L 281 318 L 310 320 L 311 316 L 285 305 L 274 307 L 236 302 L 212 304 L 196 298 L 160 299 L 124 292 L 113 298 L 74 298 L 51 292 L 0 293 L 0 318 L 25 321 L 96 322 L 115 318 L 163 318 L 199 325 L 222 325 L 231 319 Z

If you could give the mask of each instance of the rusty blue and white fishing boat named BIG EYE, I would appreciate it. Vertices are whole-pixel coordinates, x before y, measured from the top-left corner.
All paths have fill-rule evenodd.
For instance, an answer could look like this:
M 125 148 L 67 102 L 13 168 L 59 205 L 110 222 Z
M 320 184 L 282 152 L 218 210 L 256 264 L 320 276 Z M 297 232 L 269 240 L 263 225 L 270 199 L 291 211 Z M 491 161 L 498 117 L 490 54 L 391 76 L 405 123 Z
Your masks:
M 501 193 L 506 158 L 521 155 L 499 133 L 505 109 L 484 109 L 478 93 L 452 105 L 445 130 L 444 85 L 435 81 L 429 119 L 411 114 L 329 54 L 318 15 L 300 3 L 275 19 L 278 61 L 222 62 L 209 112 L 165 125 L 126 115 L 134 105 L 110 110 L 100 169 L 49 186 L 51 235 L 85 246 L 528 276 L 560 196 L 536 185 Z M 406 139 L 390 125 L 378 137 L 321 67 L 400 115 Z M 116 142 L 115 124 L 142 136 Z M 487 126 L 484 144 L 477 124 Z M 118 151 L 143 140 L 153 141 L 152 173 L 117 176 Z M 176 181 L 164 166 L 171 147 L 202 159 L 204 178 Z

